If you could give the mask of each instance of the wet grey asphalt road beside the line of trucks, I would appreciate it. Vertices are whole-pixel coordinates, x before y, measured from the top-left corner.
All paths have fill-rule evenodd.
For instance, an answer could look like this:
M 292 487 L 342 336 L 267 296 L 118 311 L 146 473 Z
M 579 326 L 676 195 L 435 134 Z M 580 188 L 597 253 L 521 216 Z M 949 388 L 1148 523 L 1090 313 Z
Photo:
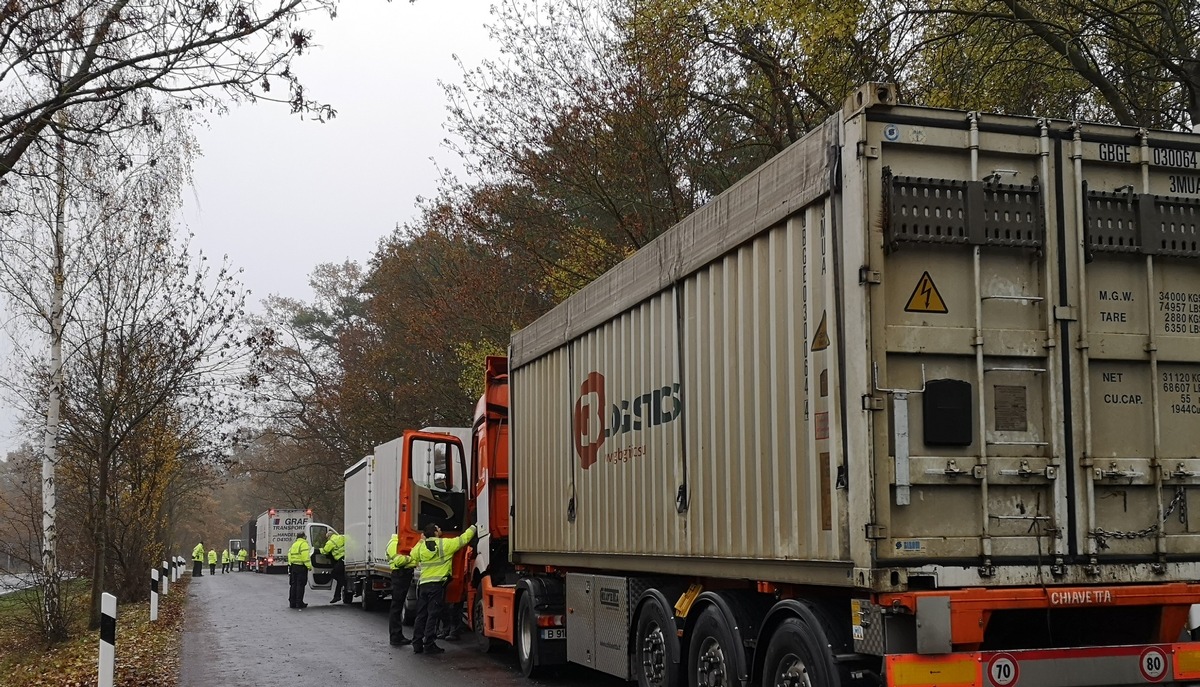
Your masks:
M 308 608 L 288 608 L 282 574 L 229 573 L 188 585 L 180 687 L 618 687 L 625 682 L 586 668 L 526 680 L 511 649 L 479 653 L 469 638 L 439 643 L 440 656 L 388 644 L 388 614 L 330 604 L 308 590 Z M 404 634 L 412 637 L 412 627 Z

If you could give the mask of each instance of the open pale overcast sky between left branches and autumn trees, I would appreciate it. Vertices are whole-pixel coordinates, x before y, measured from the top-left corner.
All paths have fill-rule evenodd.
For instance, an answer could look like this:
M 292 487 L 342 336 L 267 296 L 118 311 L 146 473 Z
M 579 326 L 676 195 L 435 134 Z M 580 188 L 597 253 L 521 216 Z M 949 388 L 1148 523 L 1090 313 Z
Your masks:
M 496 54 L 490 2 L 344 0 L 336 19 L 311 23 L 318 48 L 295 65 L 336 119 L 259 103 L 198 132 L 204 157 L 182 219 L 205 253 L 245 269 L 256 306 L 271 293 L 311 298 L 319 263 L 365 263 L 434 193 L 438 167 L 458 168 L 442 145 L 438 80 L 461 82 L 454 55 L 474 67 Z

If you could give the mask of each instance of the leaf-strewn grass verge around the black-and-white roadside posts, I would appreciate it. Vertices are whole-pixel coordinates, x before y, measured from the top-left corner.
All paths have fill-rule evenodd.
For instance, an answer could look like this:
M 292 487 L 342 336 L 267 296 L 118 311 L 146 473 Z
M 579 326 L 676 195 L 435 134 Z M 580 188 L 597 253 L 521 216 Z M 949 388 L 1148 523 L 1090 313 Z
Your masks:
M 116 609 L 116 674 L 122 687 L 174 687 L 179 683 L 184 607 L 191 578 L 172 584 L 160 598 L 158 621 L 150 622 L 150 602 Z M 0 687 L 94 687 L 100 662 L 100 632 L 88 629 L 88 583 L 64 585 L 71 638 L 47 646 L 38 635 L 32 591 L 0 597 Z

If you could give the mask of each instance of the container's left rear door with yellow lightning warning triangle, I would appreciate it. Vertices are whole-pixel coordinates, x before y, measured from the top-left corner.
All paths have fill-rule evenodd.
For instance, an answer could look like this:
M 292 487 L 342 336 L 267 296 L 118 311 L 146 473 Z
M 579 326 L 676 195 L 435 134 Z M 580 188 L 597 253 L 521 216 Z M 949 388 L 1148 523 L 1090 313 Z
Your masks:
M 871 123 L 883 217 L 872 286 L 876 556 L 1052 560 L 1064 550 L 1052 193 L 1038 130 Z M 972 172 L 976 169 L 976 172 Z

